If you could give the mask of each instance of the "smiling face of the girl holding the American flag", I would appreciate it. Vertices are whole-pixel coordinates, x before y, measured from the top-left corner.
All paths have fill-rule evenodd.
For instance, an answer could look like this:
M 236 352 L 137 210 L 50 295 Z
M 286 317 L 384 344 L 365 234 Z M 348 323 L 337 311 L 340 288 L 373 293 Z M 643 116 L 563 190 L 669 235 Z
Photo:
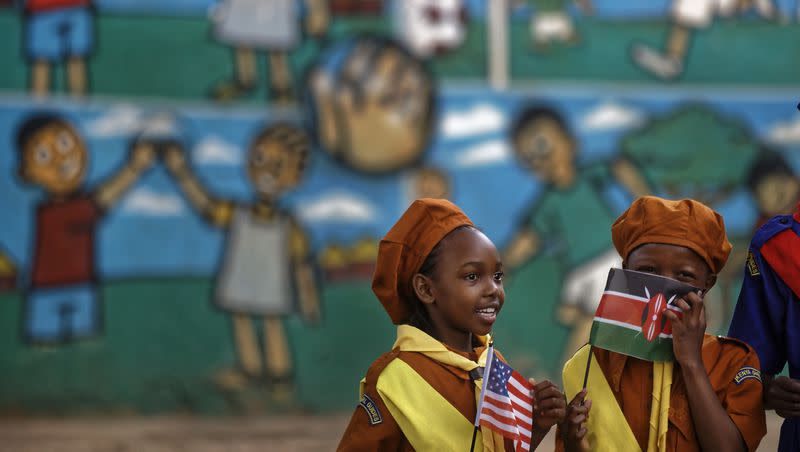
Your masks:
M 457 229 L 439 242 L 430 276 L 413 285 L 441 342 L 470 351 L 472 335 L 486 335 L 503 307 L 503 264 L 494 244 L 474 228 Z

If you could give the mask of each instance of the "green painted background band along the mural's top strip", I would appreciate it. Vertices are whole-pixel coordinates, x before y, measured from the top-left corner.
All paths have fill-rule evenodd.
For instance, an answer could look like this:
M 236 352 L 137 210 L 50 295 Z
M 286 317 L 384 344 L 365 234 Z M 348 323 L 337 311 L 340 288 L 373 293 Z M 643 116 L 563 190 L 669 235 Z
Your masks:
M 210 88 L 232 74 L 229 48 L 210 36 L 203 18 L 108 16 L 98 18 L 98 45 L 89 62 L 91 90 L 113 96 L 166 97 L 207 100 Z M 577 45 L 555 44 L 536 51 L 528 23 L 514 21 L 510 35 L 510 74 L 513 81 L 540 79 L 613 80 L 654 82 L 657 79 L 635 66 L 629 49 L 646 43 L 661 49 L 668 24 L 664 21 L 618 22 L 578 18 Z M 0 71 L 0 89 L 27 89 L 27 68 L 22 59 L 21 21 L 18 15 L 0 13 L 0 61 L 13 62 Z M 308 41 L 291 55 L 297 84 L 305 68 L 327 43 L 359 32 L 387 34 L 388 18 L 348 18 L 334 22 L 327 41 Z M 794 85 L 800 79 L 800 24 L 776 25 L 763 21 L 717 20 L 708 30 L 692 36 L 685 74 L 673 84 L 752 83 Z M 447 79 L 472 79 L 486 74 L 486 27 L 473 22 L 465 44 L 431 62 L 433 71 Z M 765 45 L 770 51 L 764 52 Z M 266 80 L 266 57 L 259 58 L 259 74 Z M 56 73 L 63 86 L 63 70 Z M 267 98 L 263 81 L 245 101 Z

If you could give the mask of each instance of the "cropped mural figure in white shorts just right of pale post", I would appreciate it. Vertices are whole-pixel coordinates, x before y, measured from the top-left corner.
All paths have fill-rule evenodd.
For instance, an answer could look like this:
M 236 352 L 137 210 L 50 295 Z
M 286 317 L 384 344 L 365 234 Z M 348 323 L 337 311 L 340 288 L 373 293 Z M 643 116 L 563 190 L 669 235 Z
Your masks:
M 531 38 L 534 47 L 546 50 L 553 42 L 576 43 L 580 40 L 572 17 L 567 11 L 570 0 L 528 0 L 535 11 L 531 16 Z M 593 11 L 591 0 L 574 0 L 585 13 Z

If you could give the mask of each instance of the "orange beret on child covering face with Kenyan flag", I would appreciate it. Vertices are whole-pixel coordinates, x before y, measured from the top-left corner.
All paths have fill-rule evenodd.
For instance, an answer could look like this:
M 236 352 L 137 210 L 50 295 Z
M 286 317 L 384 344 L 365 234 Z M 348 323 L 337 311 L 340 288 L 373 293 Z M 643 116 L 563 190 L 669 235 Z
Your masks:
M 722 270 L 731 252 L 722 216 L 693 199 L 643 196 L 611 226 L 611 240 L 623 259 L 645 243 L 684 246 L 703 258 L 714 273 Z

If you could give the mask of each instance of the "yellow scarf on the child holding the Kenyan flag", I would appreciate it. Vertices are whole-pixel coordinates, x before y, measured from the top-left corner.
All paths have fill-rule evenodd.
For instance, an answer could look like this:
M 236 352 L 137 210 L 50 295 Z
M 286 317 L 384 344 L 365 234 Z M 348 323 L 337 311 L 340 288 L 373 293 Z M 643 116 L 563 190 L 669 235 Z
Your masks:
M 584 345 L 564 365 L 564 392 L 567 400 L 571 400 L 582 389 L 589 350 L 589 345 Z M 591 355 L 591 360 L 586 388 L 588 397 L 592 399 L 592 412 L 587 421 L 587 437 L 592 450 L 599 452 L 641 451 L 594 354 Z M 672 362 L 654 362 L 648 452 L 664 452 L 666 450 L 671 386 Z

